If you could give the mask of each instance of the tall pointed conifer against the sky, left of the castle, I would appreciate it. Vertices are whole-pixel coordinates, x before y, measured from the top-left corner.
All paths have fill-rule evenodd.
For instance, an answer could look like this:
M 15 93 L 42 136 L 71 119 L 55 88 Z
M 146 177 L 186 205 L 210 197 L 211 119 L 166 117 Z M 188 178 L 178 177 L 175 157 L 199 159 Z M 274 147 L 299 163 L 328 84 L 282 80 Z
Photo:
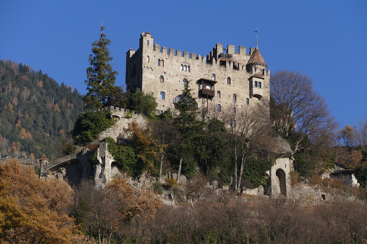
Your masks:
M 88 92 L 83 98 L 85 110 L 90 108 L 100 109 L 108 103 L 108 97 L 115 90 L 116 75 L 119 73 L 112 69 L 108 45 L 111 41 L 103 34 L 105 28 L 101 26 L 101 35 L 98 41 L 92 43 L 92 54 L 89 56 L 90 67 L 87 68 Z

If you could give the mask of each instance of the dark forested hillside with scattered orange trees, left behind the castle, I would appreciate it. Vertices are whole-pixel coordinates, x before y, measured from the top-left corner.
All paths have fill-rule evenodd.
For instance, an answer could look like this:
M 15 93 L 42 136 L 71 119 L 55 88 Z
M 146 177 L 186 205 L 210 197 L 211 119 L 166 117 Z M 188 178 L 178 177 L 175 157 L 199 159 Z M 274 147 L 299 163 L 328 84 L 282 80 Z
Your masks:
M 37 159 L 60 156 L 58 145 L 83 111 L 79 92 L 34 71 L 0 60 L 0 153 Z

